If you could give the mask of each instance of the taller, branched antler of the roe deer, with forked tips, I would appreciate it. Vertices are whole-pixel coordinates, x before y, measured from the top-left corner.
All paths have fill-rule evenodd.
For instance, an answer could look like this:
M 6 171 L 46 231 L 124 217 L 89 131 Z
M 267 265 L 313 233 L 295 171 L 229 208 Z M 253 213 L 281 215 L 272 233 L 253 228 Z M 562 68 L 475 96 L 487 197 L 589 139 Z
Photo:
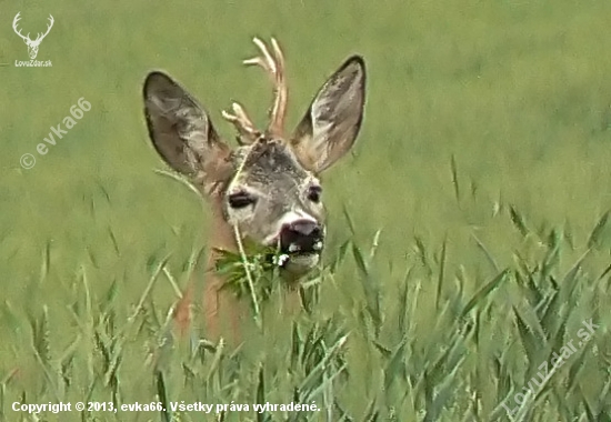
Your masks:
M 268 47 L 258 38 L 252 40 L 262 56 L 253 59 L 244 60 L 244 64 L 260 66 L 266 70 L 272 79 L 273 83 L 273 107 L 270 112 L 270 123 L 268 125 L 268 132 L 274 137 L 282 137 L 284 132 L 284 118 L 287 115 L 287 99 L 288 87 L 284 79 L 284 57 L 278 46 L 278 41 L 274 38 L 271 39 L 271 47 L 273 49 L 273 56 L 270 53 Z

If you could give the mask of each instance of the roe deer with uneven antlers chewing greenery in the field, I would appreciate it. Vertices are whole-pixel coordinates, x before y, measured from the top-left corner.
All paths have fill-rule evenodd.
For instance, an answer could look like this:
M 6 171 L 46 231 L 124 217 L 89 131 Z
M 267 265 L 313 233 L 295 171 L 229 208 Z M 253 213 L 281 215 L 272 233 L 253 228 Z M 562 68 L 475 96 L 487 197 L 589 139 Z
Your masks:
M 222 113 L 238 131 L 231 149 L 221 140 L 209 113 L 179 83 L 160 71 L 144 81 L 149 135 L 161 158 L 190 178 L 212 208 L 208 279 L 203 310 L 208 335 L 219 336 L 219 321 L 230 318 L 238 330 L 239 304 L 214 273 L 214 249 L 238 251 L 238 241 L 277 245 L 289 258 L 281 273 L 299 278 L 314 268 L 324 241 L 324 213 L 319 174 L 353 145 L 363 117 L 365 68 L 350 57 L 322 86 L 290 137 L 284 134 L 287 80 L 278 42 L 271 49 L 259 39 L 261 56 L 244 60 L 271 77 L 274 88 L 270 122 L 258 130 L 239 103 Z M 271 50 L 271 51 L 270 51 Z M 241 239 L 237 239 L 237 237 Z M 191 315 L 193 281 L 176 308 L 182 332 Z M 236 331 L 234 331 L 236 333 Z

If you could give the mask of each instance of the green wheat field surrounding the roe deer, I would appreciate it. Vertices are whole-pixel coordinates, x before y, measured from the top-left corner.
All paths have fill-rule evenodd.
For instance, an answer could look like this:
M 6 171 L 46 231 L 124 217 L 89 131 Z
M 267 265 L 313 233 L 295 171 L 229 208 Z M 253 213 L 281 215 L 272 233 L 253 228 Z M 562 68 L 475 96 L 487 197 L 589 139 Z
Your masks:
M 52 67 L 16 66 L 18 12 L 32 38 L 53 16 Z M 611 421 L 611 2 L 0 0 L 0 23 L 1 421 Z M 278 288 L 234 348 L 199 307 L 187 338 L 169 319 L 210 213 L 159 173 L 141 90 L 169 72 L 232 140 L 221 110 L 271 101 L 253 37 L 286 52 L 289 129 L 353 53 L 368 96 L 308 307 Z

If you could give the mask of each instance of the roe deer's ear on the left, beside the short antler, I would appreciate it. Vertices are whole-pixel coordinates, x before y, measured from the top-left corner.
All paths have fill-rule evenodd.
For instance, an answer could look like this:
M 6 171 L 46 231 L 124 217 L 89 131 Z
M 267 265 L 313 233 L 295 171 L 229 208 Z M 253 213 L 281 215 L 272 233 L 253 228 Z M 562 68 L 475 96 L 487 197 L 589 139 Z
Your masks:
M 222 180 L 229 170 L 230 148 L 197 101 L 157 71 L 147 77 L 143 94 L 149 135 L 161 158 L 182 174 Z

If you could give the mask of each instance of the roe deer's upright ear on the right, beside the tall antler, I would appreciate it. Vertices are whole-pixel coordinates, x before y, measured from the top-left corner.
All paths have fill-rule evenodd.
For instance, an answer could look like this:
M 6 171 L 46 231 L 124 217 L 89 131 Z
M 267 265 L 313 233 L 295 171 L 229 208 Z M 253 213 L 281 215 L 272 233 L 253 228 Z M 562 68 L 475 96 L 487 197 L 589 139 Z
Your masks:
M 319 173 L 352 148 L 361 128 L 364 93 L 364 61 L 354 56 L 322 86 L 291 138 L 304 167 Z

